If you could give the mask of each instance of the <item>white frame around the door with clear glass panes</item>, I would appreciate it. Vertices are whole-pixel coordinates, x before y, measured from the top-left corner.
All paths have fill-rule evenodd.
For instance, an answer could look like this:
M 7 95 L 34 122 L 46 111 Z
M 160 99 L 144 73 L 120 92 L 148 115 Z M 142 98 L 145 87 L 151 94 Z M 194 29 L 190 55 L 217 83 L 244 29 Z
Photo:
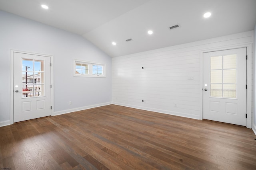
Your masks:
M 10 89 L 11 89 L 11 111 L 10 111 L 10 120 L 11 120 L 11 124 L 14 123 L 14 100 L 13 100 L 13 93 L 14 93 L 14 90 L 13 90 L 13 53 L 16 52 L 16 53 L 26 53 L 26 54 L 30 54 L 30 55 L 41 55 L 41 56 L 45 56 L 45 57 L 50 57 L 51 59 L 51 85 L 52 85 L 52 88 L 51 88 L 51 106 L 52 106 L 52 109 L 51 109 L 51 115 L 53 116 L 54 115 L 54 104 L 53 104 L 53 56 L 52 55 L 45 55 L 45 54 L 39 54 L 39 53 L 31 53 L 31 52 L 26 52 L 26 51 L 18 51 L 18 50 L 10 50 L 10 79 L 11 79 L 11 86 L 10 86 Z

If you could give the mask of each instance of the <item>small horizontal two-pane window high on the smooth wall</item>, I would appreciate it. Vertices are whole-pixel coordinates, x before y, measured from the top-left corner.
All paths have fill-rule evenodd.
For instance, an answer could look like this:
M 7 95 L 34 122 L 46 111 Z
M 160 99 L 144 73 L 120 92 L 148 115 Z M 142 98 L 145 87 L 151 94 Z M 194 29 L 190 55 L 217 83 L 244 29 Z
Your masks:
M 74 60 L 74 76 L 106 77 L 106 64 Z

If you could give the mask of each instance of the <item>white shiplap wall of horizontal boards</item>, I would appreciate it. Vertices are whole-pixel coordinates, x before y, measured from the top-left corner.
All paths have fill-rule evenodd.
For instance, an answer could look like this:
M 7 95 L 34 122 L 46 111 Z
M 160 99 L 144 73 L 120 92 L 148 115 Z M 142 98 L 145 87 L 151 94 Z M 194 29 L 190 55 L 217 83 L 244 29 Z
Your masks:
M 248 31 L 112 58 L 112 103 L 202 119 L 202 53 L 252 43 L 253 35 Z

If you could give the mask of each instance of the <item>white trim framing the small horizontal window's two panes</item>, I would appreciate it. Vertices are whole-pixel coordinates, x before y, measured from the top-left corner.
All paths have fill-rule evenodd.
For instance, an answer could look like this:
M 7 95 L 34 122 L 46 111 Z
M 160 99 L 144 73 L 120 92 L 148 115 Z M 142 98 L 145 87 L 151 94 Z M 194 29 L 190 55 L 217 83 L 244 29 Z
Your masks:
M 88 74 L 76 74 L 76 63 L 88 64 Z M 103 74 L 102 75 L 92 74 L 92 65 L 101 65 Z M 94 63 L 94 62 L 74 59 L 73 60 L 73 76 L 74 77 L 101 77 L 101 78 L 106 78 L 106 64 Z

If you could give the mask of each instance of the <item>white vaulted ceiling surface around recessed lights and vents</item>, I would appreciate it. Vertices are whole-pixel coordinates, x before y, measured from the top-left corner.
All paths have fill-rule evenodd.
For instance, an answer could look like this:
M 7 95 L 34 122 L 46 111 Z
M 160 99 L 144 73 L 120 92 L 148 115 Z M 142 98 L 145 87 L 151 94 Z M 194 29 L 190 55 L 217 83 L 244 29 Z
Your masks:
M 0 0 L 0 10 L 79 34 L 111 57 L 250 31 L 256 23 L 256 0 Z

